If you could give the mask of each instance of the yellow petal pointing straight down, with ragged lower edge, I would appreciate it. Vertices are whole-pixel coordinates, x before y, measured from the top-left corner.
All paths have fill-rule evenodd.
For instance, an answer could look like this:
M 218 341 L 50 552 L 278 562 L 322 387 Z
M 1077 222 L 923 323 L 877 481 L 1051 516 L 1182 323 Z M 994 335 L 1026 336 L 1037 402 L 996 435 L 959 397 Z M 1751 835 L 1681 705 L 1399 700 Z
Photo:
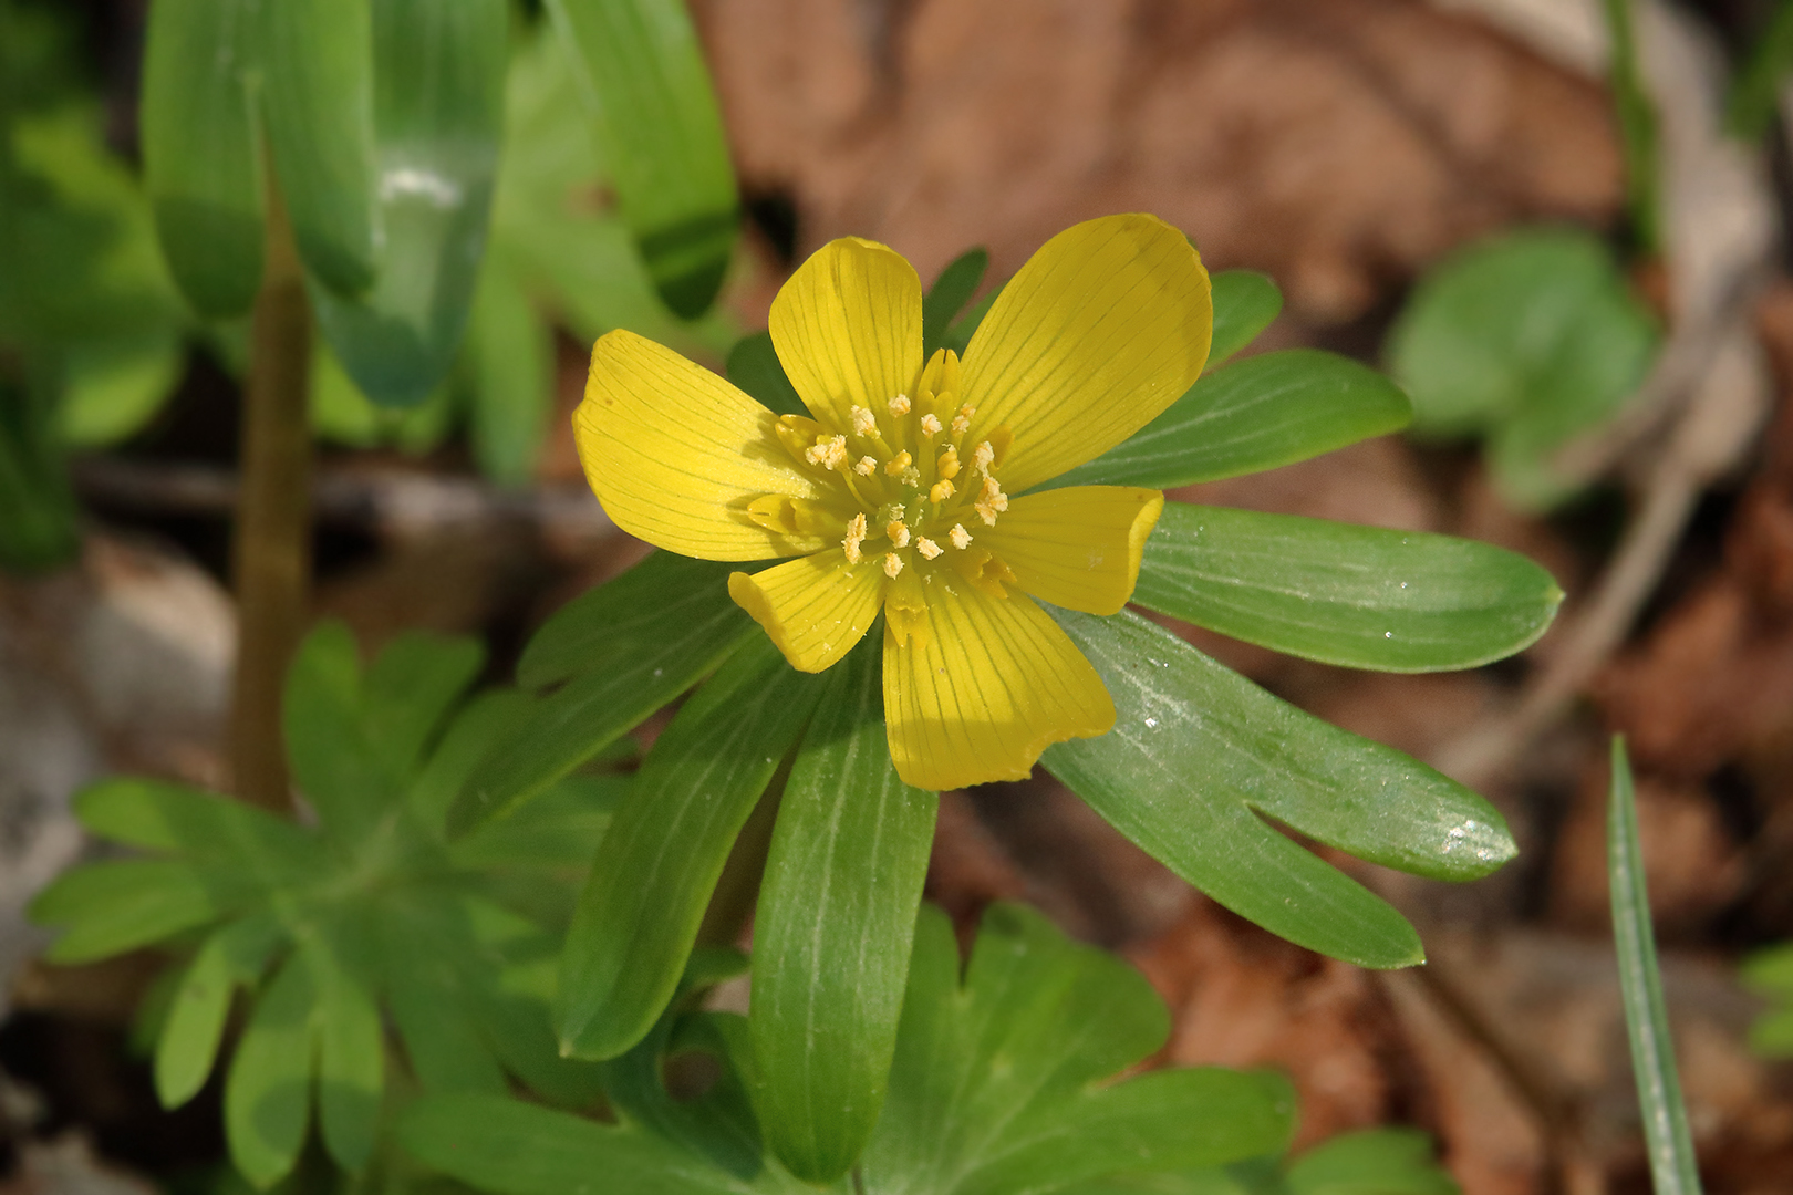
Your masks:
M 884 718 L 904 783 L 1022 779 L 1049 745 L 1113 729 L 1103 679 L 1031 598 L 936 573 L 927 618 L 929 634 L 907 645 L 884 632 Z

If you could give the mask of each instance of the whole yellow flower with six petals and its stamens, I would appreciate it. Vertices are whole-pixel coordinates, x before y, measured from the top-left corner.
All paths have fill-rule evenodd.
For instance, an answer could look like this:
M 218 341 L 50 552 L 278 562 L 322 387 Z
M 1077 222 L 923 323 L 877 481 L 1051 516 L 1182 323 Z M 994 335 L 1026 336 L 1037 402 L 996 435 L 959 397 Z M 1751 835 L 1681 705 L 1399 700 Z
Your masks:
M 773 348 L 810 417 L 775 416 L 611 331 L 574 414 L 611 520 L 712 561 L 798 557 L 728 591 L 794 668 L 884 618 L 891 760 L 920 788 L 1018 779 L 1104 735 L 1096 668 L 1033 598 L 1113 615 L 1164 494 L 1026 493 L 1169 407 L 1208 355 L 1208 276 L 1149 215 L 1078 224 L 1002 288 L 961 362 L 922 360 L 922 283 L 891 249 L 823 245 L 778 292 Z

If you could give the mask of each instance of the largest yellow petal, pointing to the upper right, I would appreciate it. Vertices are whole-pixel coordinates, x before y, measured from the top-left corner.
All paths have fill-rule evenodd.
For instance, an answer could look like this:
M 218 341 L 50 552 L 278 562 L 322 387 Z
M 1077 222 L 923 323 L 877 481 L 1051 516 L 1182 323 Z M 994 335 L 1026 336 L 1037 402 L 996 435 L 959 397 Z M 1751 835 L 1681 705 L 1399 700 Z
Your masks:
M 1020 493 L 1108 451 L 1174 403 L 1208 358 L 1208 272 L 1151 215 L 1110 215 L 1045 242 L 965 349 L 966 443 L 1015 434 L 1002 487 Z

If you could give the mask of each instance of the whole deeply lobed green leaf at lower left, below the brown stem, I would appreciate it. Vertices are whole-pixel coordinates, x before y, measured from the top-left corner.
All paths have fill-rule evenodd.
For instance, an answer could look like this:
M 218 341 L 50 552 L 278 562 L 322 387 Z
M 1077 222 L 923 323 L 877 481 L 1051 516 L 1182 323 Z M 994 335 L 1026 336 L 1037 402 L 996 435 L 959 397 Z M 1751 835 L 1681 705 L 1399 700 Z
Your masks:
M 518 697 L 461 701 L 482 652 L 421 632 L 366 668 L 339 623 L 299 649 L 285 693 L 301 826 L 208 792 L 111 779 L 77 797 L 97 837 L 142 851 L 66 873 L 32 905 L 63 930 L 57 962 L 190 948 L 161 1012 L 156 1091 L 169 1107 L 212 1073 L 237 993 L 224 1080 L 231 1159 L 256 1186 L 289 1174 L 316 1118 L 348 1170 L 373 1154 L 391 1068 L 387 1025 L 425 1091 L 597 1095 L 549 1032 L 559 930 L 620 778 L 568 778 L 516 819 L 448 842 L 466 770 L 507 733 Z

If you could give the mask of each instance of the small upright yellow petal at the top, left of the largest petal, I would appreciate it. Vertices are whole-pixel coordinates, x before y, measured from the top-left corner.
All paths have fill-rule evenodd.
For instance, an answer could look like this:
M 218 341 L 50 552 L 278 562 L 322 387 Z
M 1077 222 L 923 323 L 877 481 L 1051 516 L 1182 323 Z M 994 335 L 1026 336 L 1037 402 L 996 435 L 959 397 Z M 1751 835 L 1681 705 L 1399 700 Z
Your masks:
M 830 240 L 778 290 L 769 330 L 798 398 L 845 432 L 853 407 L 882 416 L 891 398 L 914 389 L 922 279 L 877 242 Z

